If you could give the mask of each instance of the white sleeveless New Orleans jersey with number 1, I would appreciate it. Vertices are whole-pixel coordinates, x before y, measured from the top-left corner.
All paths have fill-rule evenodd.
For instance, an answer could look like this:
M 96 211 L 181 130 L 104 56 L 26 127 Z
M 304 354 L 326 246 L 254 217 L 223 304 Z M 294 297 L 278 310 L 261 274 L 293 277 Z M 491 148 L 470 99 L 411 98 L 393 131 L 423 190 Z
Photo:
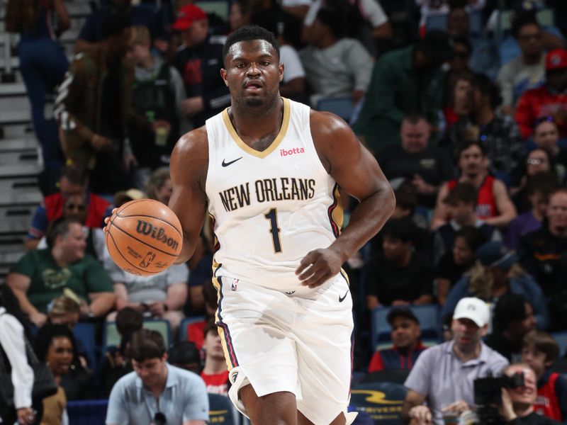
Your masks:
M 303 256 L 338 236 L 342 204 L 315 151 L 309 114 L 284 98 L 281 130 L 262 152 L 242 142 L 228 110 L 207 120 L 215 276 L 293 288 Z

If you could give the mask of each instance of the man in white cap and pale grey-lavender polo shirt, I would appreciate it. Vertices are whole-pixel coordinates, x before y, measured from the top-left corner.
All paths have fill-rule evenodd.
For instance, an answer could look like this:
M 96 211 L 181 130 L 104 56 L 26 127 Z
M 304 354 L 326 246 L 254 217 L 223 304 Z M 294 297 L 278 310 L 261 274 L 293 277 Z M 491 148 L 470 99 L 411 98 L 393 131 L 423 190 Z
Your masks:
M 489 316 L 488 305 L 479 298 L 459 301 L 451 324 L 453 340 L 424 351 L 405 380 L 402 419 L 442 425 L 444 414 L 459 416 L 473 406 L 473 380 L 499 375 L 508 364 L 482 341 Z

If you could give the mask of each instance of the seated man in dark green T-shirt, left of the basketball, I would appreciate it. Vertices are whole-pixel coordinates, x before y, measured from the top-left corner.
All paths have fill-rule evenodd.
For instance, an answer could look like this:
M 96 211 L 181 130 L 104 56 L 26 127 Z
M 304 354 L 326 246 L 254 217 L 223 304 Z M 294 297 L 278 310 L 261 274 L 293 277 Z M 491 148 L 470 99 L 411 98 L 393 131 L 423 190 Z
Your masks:
M 99 261 L 85 254 L 85 236 L 78 220 L 60 219 L 47 232 L 47 249 L 24 255 L 6 277 L 24 313 L 41 327 L 47 305 L 68 288 L 77 294 L 84 318 L 104 317 L 114 306 L 111 279 Z

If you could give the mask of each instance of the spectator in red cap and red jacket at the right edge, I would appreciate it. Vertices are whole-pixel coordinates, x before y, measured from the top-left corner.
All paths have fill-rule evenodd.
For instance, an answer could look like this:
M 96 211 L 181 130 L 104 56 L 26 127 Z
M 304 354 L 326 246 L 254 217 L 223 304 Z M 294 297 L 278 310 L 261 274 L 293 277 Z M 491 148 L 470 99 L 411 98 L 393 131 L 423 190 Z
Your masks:
M 522 137 L 532 135 L 534 122 L 551 117 L 561 137 L 567 137 L 567 50 L 555 49 L 545 58 L 546 84 L 526 91 L 518 101 L 515 118 Z

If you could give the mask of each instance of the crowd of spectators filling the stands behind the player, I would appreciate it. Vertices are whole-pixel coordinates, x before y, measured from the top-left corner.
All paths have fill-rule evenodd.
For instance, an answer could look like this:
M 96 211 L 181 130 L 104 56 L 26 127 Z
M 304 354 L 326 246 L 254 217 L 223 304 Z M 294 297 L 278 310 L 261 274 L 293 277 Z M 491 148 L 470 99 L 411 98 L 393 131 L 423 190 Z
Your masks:
M 198 1 L 107 0 L 94 3 L 70 62 L 57 47 L 70 25 L 64 1 L 16 3 L 8 1 L 6 29 L 20 33 L 47 179 L 27 253 L 6 283 L 60 386 L 43 403 L 50 423 L 61 423 L 67 400 L 110 397 L 108 424 L 159 415 L 201 424 L 208 404 L 196 392 L 228 391 L 210 321 L 210 223 L 187 264 L 151 278 L 113 263 L 101 227 L 128 200 L 169 202 L 169 155 L 180 135 L 230 105 L 223 42 L 248 23 L 281 43 L 283 96 L 313 108 L 322 98 L 352 104 L 352 128 L 395 189 L 391 220 L 345 264 L 361 301 L 354 370 L 412 370 L 402 416 L 439 423 L 475 404 L 473 376 L 522 361 L 505 373 L 524 373 L 524 392 L 537 387 L 538 397 L 507 391 L 500 414 L 518 424 L 539 423 L 533 414 L 567 421 L 567 382 L 550 370 L 565 353 L 544 333 L 567 331 L 561 1 L 415 0 L 400 27 L 386 0 L 235 0 L 228 16 Z M 55 86 L 56 123 L 43 115 Z M 348 212 L 356 200 L 344 199 Z M 443 344 L 422 341 L 419 305 L 439 308 Z M 374 351 L 368 317 L 383 307 L 393 308 L 393 346 Z M 172 347 L 140 330 L 152 318 L 169 321 Z M 77 322 L 116 322 L 120 344 L 100 368 L 74 340 Z M 93 380 L 102 384 L 96 394 Z M 180 399 L 160 395 L 173 385 Z M 139 402 L 147 411 L 128 407 Z

